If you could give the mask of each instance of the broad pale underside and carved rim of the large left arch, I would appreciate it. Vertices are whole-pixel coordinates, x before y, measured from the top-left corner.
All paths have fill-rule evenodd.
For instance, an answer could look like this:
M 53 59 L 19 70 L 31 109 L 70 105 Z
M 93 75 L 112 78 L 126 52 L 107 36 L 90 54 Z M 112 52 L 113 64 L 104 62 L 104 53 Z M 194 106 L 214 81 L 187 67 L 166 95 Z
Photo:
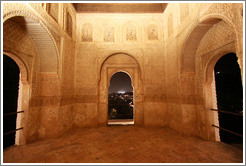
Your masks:
M 5 21 L 14 18 L 23 17 L 26 20 L 32 20 L 34 24 L 28 24 L 26 21 L 26 33 L 35 43 L 39 59 L 40 59 L 40 72 L 59 74 L 59 51 L 55 39 L 51 32 L 48 30 L 43 21 L 25 11 L 14 10 L 10 11 L 3 16 L 3 24 Z

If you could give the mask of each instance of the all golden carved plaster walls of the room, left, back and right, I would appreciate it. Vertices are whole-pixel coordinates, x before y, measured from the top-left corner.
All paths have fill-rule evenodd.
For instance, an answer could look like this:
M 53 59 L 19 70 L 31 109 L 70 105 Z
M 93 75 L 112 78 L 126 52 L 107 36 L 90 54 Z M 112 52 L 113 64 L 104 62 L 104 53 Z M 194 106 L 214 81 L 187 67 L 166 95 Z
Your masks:
M 23 28 L 16 16 L 45 32 L 52 60 L 38 29 Z M 242 3 L 169 3 L 164 13 L 141 14 L 4 3 L 3 25 L 3 51 L 27 73 L 23 144 L 106 125 L 108 80 L 116 71 L 133 79 L 135 125 L 215 140 L 214 64 L 235 52 L 243 76 Z

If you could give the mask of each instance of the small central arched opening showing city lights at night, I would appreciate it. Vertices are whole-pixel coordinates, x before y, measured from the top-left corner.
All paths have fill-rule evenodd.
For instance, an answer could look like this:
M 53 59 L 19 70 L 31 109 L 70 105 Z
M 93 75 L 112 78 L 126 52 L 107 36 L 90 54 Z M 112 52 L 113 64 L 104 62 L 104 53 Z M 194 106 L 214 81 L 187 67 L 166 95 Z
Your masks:
M 130 76 L 117 72 L 108 88 L 108 125 L 134 124 L 133 87 Z

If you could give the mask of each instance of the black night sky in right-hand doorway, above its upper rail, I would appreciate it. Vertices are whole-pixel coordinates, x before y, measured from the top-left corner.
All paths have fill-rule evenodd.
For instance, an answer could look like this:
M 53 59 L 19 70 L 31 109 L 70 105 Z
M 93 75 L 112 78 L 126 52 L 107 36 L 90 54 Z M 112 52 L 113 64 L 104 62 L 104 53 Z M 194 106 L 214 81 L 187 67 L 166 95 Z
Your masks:
M 224 55 L 215 65 L 218 108 L 242 110 L 243 87 L 236 54 Z

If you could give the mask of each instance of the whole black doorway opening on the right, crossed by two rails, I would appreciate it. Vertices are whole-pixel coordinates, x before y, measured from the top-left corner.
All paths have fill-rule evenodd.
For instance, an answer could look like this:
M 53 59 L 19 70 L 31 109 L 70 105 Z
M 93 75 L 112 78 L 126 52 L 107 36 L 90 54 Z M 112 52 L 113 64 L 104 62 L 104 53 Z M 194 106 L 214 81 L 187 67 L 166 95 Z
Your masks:
M 243 87 L 241 71 L 235 53 L 224 55 L 214 68 L 217 106 L 219 110 L 233 113 L 243 111 Z M 219 112 L 219 125 L 243 135 L 243 116 Z M 229 144 L 242 144 L 243 138 L 220 130 L 220 140 Z

